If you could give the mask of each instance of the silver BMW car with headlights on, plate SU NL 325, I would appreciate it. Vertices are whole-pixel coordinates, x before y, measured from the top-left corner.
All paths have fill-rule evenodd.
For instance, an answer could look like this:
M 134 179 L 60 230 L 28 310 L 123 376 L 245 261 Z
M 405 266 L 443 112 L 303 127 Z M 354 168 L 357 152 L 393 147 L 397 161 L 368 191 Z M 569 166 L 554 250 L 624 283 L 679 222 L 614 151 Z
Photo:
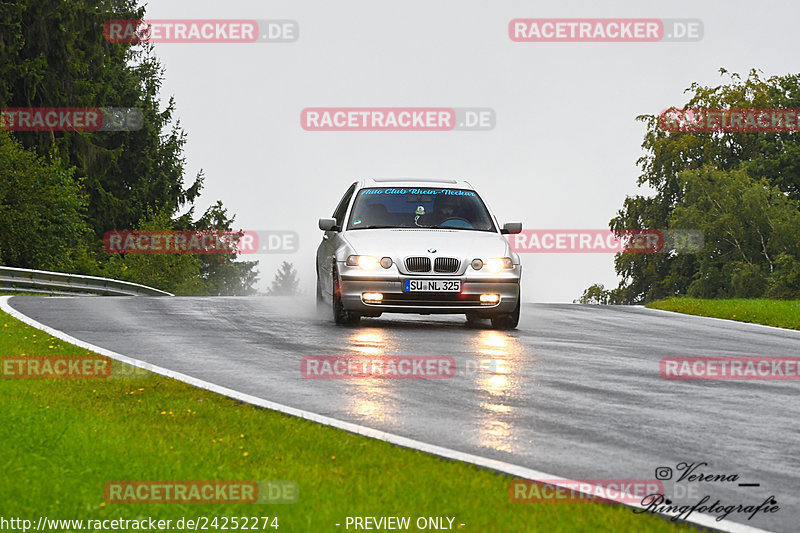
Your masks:
M 466 181 L 365 179 L 344 193 L 317 248 L 317 304 L 337 324 L 382 313 L 465 314 L 517 327 L 522 265 Z

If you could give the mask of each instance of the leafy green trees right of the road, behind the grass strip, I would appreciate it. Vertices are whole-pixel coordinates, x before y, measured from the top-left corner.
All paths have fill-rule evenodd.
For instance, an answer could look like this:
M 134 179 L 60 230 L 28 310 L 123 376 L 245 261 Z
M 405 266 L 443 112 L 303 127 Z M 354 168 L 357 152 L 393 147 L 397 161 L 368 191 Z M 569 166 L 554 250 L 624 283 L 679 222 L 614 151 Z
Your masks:
M 797 74 L 768 79 L 755 70 L 746 79 L 725 69 L 721 74 L 728 83 L 718 87 L 693 83 L 683 109 L 800 108 Z M 626 198 L 610 228 L 701 230 L 705 245 L 697 253 L 617 254 L 619 286 L 592 285 L 580 301 L 638 304 L 679 295 L 800 298 L 796 120 L 793 127 L 787 122 L 772 128 L 789 131 L 771 132 L 668 132 L 658 116 L 637 120 L 647 125 L 638 184 L 649 185 L 655 194 Z

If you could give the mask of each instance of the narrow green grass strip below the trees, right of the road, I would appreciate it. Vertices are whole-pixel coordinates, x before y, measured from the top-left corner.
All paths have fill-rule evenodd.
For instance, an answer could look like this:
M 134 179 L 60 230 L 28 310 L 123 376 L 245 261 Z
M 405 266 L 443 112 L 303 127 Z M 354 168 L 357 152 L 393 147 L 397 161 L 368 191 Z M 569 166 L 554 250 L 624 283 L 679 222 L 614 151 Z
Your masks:
M 650 302 L 647 307 L 779 328 L 800 329 L 800 300 L 666 298 Z

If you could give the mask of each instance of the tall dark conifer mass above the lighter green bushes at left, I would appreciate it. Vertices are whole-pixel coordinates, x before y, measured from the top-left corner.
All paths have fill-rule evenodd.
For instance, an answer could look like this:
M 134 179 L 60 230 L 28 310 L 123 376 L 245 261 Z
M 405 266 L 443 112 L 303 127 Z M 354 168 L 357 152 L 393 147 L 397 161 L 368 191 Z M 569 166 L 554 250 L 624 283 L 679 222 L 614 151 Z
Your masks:
M 111 43 L 109 19 L 141 19 L 137 0 L 18 0 L 0 8 L 0 107 L 130 107 L 143 127 L 122 132 L 19 132 L 26 149 L 75 167 L 99 239 L 150 210 L 170 215 L 199 195 L 183 184 L 186 137 L 174 101 L 159 110 L 164 71 L 152 45 Z M 99 244 L 97 244 L 99 249 Z

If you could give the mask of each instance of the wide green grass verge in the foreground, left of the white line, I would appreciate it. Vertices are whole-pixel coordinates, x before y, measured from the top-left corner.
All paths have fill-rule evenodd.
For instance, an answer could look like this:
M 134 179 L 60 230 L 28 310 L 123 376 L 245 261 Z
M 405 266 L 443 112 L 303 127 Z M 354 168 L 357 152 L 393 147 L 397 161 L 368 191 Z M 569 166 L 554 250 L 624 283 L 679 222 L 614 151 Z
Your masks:
M 0 313 L 0 355 L 22 354 L 88 352 Z M 411 516 L 412 524 L 418 516 L 450 516 L 465 524 L 455 528 L 462 531 L 697 530 L 624 506 L 511 502 L 509 476 L 149 372 L 0 379 L 0 413 L 0 516 L 34 524 L 39 516 L 277 516 L 278 531 L 345 531 L 346 516 Z M 106 503 L 104 486 L 114 480 L 293 480 L 300 498 L 288 505 Z

